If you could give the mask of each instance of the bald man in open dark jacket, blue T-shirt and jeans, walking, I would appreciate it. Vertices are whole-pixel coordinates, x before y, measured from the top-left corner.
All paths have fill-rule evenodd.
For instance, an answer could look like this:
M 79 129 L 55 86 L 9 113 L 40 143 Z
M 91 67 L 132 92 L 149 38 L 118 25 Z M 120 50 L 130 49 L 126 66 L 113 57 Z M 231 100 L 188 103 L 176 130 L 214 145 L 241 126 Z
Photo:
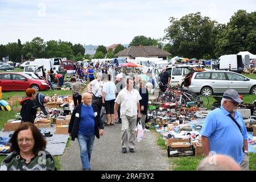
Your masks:
M 82 169 L 90 171 L 90 156 L 92 155 L 94 136 L 99 139 L 104 134 L 100 111 L 95 104 L 92 104 L 90 93 L 82 94 L 82 103 L 73 110 L 68 133 L 73 141 L 77 138 L 79 142 Z

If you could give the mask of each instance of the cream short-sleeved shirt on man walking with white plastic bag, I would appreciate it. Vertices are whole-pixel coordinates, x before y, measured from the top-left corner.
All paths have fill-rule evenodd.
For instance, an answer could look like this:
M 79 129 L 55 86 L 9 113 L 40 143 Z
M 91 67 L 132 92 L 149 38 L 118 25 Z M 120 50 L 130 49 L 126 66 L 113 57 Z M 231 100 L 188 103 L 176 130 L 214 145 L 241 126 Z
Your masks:
M 130 117 L 137 115 L 137 103 L 139 103 L 139 100 L 141 99 L 142 97 L 138 90 L 133 89 L 129 92 L 127 88 L 122 89 L 115 99 L 115 102 L 117 102 L 118 105 L 121 105 L 120 115 L 125 114 Z

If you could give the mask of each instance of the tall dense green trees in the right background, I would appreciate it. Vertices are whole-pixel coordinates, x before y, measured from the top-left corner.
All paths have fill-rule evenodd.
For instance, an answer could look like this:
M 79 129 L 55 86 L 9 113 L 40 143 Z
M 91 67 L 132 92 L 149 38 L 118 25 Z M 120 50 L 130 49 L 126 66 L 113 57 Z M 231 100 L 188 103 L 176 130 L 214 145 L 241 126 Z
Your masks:
M 256 11 L 238 10 L 227 24 L 200 13 L 171 17 L 170 23 L 163 38 L 170 43 L 163 49 L 172 55 L 211 59 L 240 51 L 256 54 Z

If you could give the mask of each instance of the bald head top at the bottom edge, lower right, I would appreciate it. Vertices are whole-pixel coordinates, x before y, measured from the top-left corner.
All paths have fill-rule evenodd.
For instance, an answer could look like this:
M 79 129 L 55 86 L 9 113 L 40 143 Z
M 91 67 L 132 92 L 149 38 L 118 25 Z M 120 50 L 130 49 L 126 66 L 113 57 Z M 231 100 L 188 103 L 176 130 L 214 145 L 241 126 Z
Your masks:
M 201 160 L 197 171 L 241 171 L 241 167 L 228 155 L 210 155 Z

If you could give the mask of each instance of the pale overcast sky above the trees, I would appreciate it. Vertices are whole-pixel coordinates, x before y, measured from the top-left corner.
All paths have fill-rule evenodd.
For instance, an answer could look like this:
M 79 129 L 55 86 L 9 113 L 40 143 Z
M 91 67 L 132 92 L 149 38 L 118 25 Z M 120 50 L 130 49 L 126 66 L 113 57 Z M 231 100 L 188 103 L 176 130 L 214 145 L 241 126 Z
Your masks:
M 73 44 L 129 44 L 134 36 L 163 38 L 170 16 L 201 12 L 227 23 L 238 9 L 255 11 L 255 0 L 0 0 L 0 44 L 36 36 Z

